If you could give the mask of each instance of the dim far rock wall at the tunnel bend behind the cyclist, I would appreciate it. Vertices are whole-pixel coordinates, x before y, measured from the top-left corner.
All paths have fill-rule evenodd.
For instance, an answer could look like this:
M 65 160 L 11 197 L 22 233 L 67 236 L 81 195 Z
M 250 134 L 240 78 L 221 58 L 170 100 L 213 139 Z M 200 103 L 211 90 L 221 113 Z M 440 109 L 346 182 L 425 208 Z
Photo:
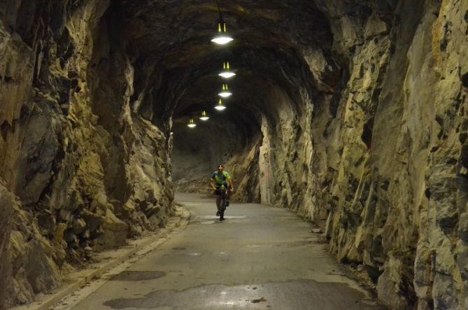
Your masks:
M 236 181 L 246 176 L 246 154 L 258 143 L 260 130 L 234 120 L 229 110 L 209 115 L 208 121 L 199 121 L 194 128 L 183 119 L 173 123 L 171 165 L 177 192 L 210 193 L 210 177 L 219 164 Z

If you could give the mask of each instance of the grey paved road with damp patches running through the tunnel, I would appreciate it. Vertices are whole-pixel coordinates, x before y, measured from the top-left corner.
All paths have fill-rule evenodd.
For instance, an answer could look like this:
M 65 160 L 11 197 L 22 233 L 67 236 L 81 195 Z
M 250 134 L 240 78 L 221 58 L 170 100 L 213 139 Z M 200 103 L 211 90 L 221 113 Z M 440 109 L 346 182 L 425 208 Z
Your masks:
M 111 277 L 73 309 L 381 309 L 294 213 L 178 195 L 187 228 Z

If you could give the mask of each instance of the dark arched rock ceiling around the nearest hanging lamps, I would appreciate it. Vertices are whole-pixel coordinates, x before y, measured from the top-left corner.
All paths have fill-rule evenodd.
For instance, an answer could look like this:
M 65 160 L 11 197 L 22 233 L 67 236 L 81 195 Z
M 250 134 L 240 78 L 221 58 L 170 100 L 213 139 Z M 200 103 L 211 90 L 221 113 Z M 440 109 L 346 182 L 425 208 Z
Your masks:
M 281 87 L 292 98 L 298 83 L 310 84 L 312 92 L 334 89 L 339 60 L 332 52 L 329 20 L 314 1 L 219 4 L 234 37 L 232 43 L 221 46 L 211 43 L 219 18 L 215 1 L 120 1 L 125 20 L 122 31 L 132 42 L 128 46 L 141 74 L 153 74 L 149 83 L 166 83 L 164 88 L 170 92 L 153 94 L 156 117 L 169 113 L 174 122 L 185 122 L 201 109 L 214 111 L 223 83 L 218 72 L 225 60 L 237 74 L 225 80 L 234 93 L 225 102 L 242 113 L 262 109 L 269 85 Z M 355 15 L 367 12 L 366 6 L 352 2 L 348 8 Z M 302 55 L 315 47 L 334 64 L 321 74 L 325 76 L 321 80 L 311 76 Z

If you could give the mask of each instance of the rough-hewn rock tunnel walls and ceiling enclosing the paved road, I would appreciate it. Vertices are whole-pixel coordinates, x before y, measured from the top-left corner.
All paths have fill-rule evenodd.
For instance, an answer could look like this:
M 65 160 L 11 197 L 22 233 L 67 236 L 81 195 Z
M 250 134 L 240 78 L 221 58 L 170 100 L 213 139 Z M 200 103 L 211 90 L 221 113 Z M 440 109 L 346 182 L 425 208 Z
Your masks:
M 219 164 L 385 307 L 467 309 L 467 47 L 460 0 L 0 1 L 0 309 L 213 198 Z

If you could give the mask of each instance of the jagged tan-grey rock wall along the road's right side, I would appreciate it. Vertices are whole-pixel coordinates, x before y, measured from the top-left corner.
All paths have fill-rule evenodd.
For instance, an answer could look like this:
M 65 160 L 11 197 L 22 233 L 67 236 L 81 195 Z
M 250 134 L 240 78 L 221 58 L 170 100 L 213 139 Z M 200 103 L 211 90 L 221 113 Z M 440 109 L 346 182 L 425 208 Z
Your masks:
M 395 309 L 466 309 L 468 2 L 315 3 L 332 48 L 267 87 L 237 198 L 314 220 Z

